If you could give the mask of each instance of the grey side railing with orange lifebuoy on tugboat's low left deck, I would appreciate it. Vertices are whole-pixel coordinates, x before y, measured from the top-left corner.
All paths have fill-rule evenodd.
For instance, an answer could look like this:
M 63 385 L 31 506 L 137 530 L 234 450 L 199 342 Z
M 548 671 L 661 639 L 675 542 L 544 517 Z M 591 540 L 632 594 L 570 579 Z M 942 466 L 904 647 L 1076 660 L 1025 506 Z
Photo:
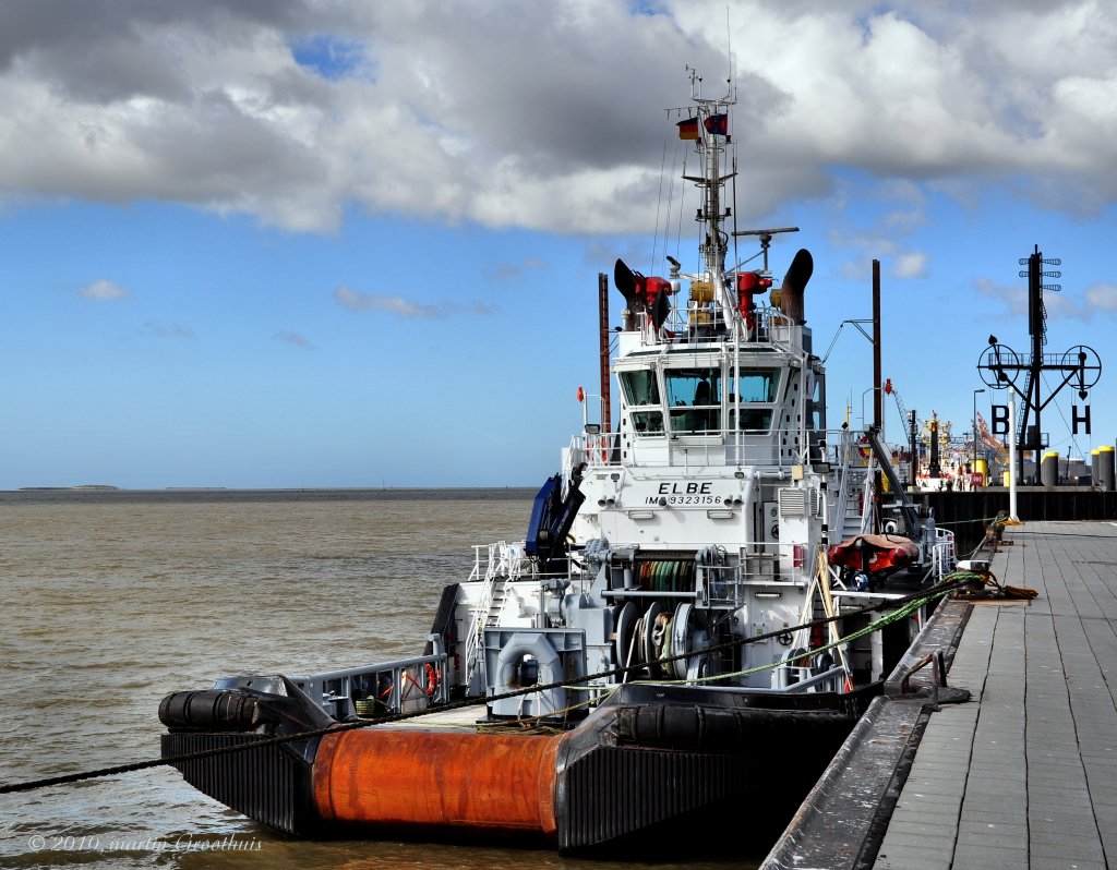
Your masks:
M 449 698 L 447 656 L 431 635 L 436 652 L 293 679 L 335 719 L 375 719 L 393 713 L 421 713 Z

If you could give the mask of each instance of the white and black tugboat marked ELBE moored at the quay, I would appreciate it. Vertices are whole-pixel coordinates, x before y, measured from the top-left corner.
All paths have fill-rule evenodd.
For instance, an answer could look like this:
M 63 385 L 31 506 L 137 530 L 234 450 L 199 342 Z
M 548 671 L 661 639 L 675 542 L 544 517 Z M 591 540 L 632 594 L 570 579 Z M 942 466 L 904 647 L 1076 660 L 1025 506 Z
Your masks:
M 812 257 L 775 287 L 795 228 L 726 227 L 735 101 L 694 74 L 691 98 L 699 258 L 613 267 L 619 426 L 602 275 L 602 421 L 583 405 L 525 539 L 476 547 L 421 656 L 164 698 L 163 756 L 197 788 L 299 836 L 774 836 L 879 694 L 926 615 L 904 596 L 952 568 L 952 539 L 898 481 L 881 516 L 873 431 L 827 430 Z M 731 233 L 758 241 L 756 268 L 727 267 Z M 878 558 L 880 530 L 903 558 Z

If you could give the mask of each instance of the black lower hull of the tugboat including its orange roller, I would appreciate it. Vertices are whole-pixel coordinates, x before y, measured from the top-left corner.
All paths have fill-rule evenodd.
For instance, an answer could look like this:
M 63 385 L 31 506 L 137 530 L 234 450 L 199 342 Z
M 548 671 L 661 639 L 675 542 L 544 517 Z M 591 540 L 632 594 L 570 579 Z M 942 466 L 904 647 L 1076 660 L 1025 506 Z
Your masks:
M 747 818 L 751 834 L 779 833 L 875 694 L 630 685 L 566 732 L 386 725 L 175 767 L 206 794 L 297 836 L 515 838 L 566 852 L 634 843 L 642 851 L 669 843 L 696 814 L 704 825 Z M 260 736 L 172 729 L 163 755 Z

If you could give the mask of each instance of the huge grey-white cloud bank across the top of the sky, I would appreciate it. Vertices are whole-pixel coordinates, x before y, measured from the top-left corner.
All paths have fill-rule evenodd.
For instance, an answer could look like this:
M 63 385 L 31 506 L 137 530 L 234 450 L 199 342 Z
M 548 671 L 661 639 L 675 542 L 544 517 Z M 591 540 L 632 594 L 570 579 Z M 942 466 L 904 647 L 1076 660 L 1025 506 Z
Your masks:
M 833 166 L 906 185 L 900 227 L 924 185 L 1012 182 L 1083 213 L 1117 200 L 1106 3 L 731 11 L 746 222 L 829 193 Z M 335 229 L 354 201 L 650 229 L 665 141 L 682 155 L 662 107 L 688 102 L 685 63 L 724 90 L 725 26 L 720 0 L 6 3 L 0 198 L 162 199 L 296 231 Z

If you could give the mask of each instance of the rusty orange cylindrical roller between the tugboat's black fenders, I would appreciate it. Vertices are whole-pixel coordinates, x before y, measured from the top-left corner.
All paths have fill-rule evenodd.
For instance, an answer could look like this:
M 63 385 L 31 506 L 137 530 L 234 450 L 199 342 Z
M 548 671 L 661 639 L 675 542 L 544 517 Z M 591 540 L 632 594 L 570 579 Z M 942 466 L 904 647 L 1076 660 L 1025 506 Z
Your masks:
M 353 730 L 322 738 L 314 801 L 325 822 L 556 836 L 565 735 Z

